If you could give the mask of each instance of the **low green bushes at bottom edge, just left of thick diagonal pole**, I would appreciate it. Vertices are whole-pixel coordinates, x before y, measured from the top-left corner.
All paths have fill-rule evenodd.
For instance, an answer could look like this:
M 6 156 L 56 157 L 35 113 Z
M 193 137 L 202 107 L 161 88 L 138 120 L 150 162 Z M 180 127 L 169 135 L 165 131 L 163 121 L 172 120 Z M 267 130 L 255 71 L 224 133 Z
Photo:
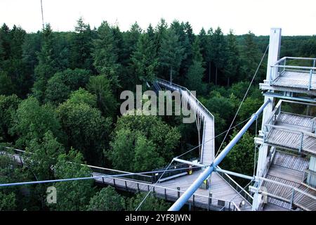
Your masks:
M 135 211 L 138 205 L 145 198 L 146 193 L 138 193 L 135 197 L 130 198 L 127 203 L 127 210 Z M 154 194 L 150 194 L 145 202 L 138 209 L 139 211 L 166 211 L 171 205 L 164 200 L 155 198 Z

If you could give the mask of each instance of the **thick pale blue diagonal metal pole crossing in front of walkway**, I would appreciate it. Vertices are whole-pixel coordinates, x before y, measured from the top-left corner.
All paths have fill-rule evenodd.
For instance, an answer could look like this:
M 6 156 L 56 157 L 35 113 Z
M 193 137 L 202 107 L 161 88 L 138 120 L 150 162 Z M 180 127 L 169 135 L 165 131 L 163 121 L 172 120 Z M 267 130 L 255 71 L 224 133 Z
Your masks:
M 211 175 L 214 169 L 220 164 L 220 162 L 222 162 L 225 156 L 230 152 L 232 147 L 235 146 L 237 141 L 239 141 L 239 139 L 242 138 L 242 135 L 246 133 L 247 129 L 249 129 L 251 124 L 253 124 L 253 122 L 256 121 L 256 119 L 258 118 L 258 115 L 262 113 L 263 109 L 265 108 L 265 106 L 268 105 L 268 103 L 270 103 L 269 99 L 268 101 L 265 101 L 263 105 L 261 105 L 261 107 L 257 110 L 256 113 L 254 113 L 254 115 L 251 116 L 251 119 L 244 125 L 244 127 L 242 127 L 242 129 L 238 132 L 238 134 L 234 137 L 234 139 L 232 139 L 232 141 L 228 143 L 228 146 L 226 146 L 223 149 L 223 151 L 216 157 L 216 159 L 213 161 L 211 165 L 209 165 L 208 167 L 206 167 L 206 169 L 204 169 L 204 172 L 202 172 L 202 174 L 199 175 L 199 177 L 193 182 L 193 184 L 191 184 L 191 186 L 187 188 L 185 193 L 183 193 L 183 195 L 181 195 L 180 198 L 178 198 L 178 200 L 176 200 L 176 202 L 173 203 L 173 205 L 169 208 L 168 211 L 178 211 L 181 209 L 181 207 L 183 207 L 183 205 L 185 205 L 185 203 L 187 203 L 187 200 L 189 200 L 189 198 L 193 195 L 193 193 L 197 191 L 197 188 L 199 188 L 199 186 L 203 183 L 203 181 L 207 179 L 209 175 Z

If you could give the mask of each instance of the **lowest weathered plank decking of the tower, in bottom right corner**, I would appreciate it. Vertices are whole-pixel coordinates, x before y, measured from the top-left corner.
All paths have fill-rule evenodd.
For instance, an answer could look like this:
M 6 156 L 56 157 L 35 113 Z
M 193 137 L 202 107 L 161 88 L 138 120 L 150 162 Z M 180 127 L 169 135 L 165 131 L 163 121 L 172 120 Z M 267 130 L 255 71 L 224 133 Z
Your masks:
M 316 210 L 316 200 L 301 192 L 294 191 L 292 187 L 316 197 L 315 189 L 305 186 L 303 181 L 303 171 L 308 168 L 308 159 L 287 153 L 276 152 L 272 165 L 268 170 L 267 179 L 277 181 L 287 186 L 281 186 L 272 182 L 264 181 L 262 186 L 271 195 L 268 197 L 267 210 L 276 205 L 284 210 L 292 210 L 294 207 L 303 210 Z

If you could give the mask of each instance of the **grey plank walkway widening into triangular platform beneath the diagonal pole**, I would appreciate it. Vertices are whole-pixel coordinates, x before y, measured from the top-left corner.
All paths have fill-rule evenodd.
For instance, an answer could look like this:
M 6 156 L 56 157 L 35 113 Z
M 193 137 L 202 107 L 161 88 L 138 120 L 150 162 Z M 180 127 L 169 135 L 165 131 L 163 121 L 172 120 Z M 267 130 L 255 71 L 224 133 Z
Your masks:
M 154 187 L 154 193 L 159 198 L 176 201 L 180 195 L 192 184 L 197 176 L 201 174 L 202 170 L 193 172 L 191 175 L 181 176 L 176 179 L 165 181 L 157 184 Z M 105 175 L 105 174 L 102 174 Z M 98 173 L 93 173 L 93 176 L 100 176 Z M 99 184 L 111 185 L 124 191 L 150 191 L 153 184 L 121 179 L 121 178 L 98 178 L 95 179 Z M 211 193 L 211 194 L 209 194 Z M 251 205 L 242 195 L 230 186 L 219 174 L 216 172 L 211 176 L 210 191 L 199 188 L 189 200 L 189 203 L 195 207 L 202 207 L 208 210 L 239 210 L 239 205 L 244 201 L 244 209 L 251 210 Z

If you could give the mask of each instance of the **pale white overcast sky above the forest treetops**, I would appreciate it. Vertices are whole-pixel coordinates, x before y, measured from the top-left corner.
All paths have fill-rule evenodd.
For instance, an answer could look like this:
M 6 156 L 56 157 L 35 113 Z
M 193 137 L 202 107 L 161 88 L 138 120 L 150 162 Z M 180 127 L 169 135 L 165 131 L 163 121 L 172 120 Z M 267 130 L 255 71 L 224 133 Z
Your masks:
M 160 18 L 189 21 L 197 34 L 204 27 L 230 29 L 235 34 L 268 35 L 281 27 L 282 35 L 316 34 L 315 0 L 42 0 L 44 22 L 55 31 L 72 31 L 79 17 L 91 27 L 103 20 L 129 30 L 138 22 L 144 30 Z M 27 32 L 41 30 L 41 0 L 1 0 L 0 24 L 20 25 Z

